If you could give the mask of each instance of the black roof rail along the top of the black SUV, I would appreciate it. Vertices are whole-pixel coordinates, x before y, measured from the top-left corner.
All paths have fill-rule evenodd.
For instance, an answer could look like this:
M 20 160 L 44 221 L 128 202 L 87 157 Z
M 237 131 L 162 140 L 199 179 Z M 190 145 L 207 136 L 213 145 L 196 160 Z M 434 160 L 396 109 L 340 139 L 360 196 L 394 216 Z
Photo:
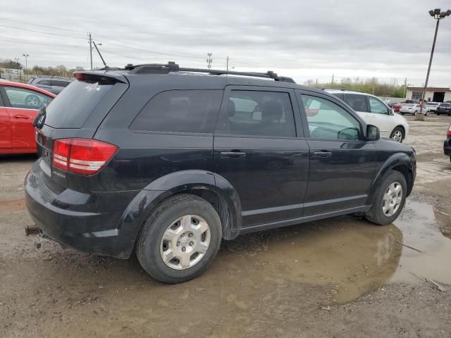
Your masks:
M 167 64 L 161 63 L 147 63 L 142 65 L 125 65 L 125 70 L 130 70 L 132 74 L 150 74 L 159 73 L 167 74 L 169 72 L 192 72 L 192 73 L 207 73 L 211 75 L 241 75 L 249 77 L 263 77 L 267 79 L 273 79 L 275 81 L 296 83 L 291 77 L 278 76 L 272 70 L 268 70 L 266 73 L 255 73 L 255 72 L 236 72 L 230 70 L 217 70 L 209 68 L 180 68 L 180 66 L 172 61 Z

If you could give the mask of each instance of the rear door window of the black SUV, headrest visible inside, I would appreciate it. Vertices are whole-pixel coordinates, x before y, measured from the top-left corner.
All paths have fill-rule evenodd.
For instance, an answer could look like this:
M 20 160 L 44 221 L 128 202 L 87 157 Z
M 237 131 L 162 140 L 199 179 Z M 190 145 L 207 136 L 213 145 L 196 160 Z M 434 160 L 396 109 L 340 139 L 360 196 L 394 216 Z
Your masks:
M 225 104 L 216 127 L 221 134 L 296 136 L 288 93 L 233 90 Z

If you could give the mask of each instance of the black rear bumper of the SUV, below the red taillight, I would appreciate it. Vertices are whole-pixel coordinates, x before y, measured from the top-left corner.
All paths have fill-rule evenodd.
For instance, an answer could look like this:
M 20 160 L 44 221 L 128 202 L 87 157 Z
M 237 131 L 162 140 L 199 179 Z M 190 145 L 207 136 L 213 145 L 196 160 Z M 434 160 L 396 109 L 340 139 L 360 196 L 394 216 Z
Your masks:
M 138 192 L 58 191 L 40 170 L 39 161 L 25 177 L 25 203 L 37 227 L 82 252 L 128 258 L 140 225 L 123 220 Z

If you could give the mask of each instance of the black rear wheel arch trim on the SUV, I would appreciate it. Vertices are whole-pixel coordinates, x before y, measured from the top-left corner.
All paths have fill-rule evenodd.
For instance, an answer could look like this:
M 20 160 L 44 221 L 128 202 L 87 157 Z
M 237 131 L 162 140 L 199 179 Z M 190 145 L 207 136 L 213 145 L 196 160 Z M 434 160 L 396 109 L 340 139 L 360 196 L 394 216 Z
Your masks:
M 149 183 L 125 209 L 119 228 L 130 232 L 128 238 L 133 240 L 132 247 L 150 215 L 163 201 L 176 194 L 193 194 L 209 202 L 221 219 L 224 239 L 234 239 L 240 233 L 241 203 L 232 185 L 205 170 L 181 170 Z

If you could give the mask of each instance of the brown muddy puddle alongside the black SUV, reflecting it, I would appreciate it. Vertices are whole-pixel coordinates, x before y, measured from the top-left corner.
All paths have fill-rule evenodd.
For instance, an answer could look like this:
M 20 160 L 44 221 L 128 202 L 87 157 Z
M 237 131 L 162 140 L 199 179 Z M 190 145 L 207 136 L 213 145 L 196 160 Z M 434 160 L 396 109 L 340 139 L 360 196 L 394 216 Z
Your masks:
M 408 201 L 384 227 L 346 216 L 223 242 L 204 281 L 219 275 L 262 287 L 321 285 L 330 303 L 345 303 L 388 282 L 451 284 L 450 257 L 433 207 Z

